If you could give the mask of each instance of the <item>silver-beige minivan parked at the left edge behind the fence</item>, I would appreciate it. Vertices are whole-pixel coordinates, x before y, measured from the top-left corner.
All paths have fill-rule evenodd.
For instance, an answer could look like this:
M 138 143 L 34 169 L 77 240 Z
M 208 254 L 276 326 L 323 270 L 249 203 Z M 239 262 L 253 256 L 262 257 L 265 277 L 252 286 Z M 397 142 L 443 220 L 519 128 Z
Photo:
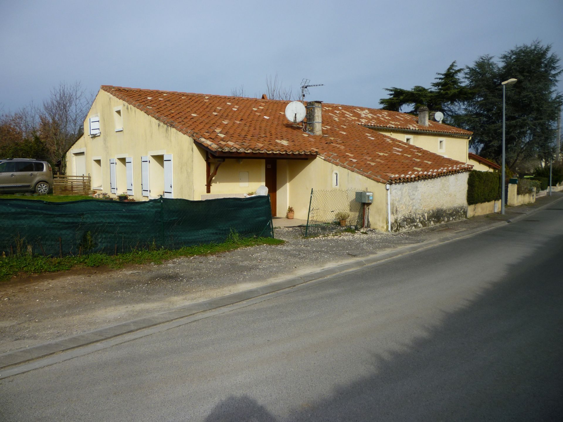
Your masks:
M 0 191 L 48 194 L 52 187 L 53 169 L 47 161 L 29 158 L 0 160 Z

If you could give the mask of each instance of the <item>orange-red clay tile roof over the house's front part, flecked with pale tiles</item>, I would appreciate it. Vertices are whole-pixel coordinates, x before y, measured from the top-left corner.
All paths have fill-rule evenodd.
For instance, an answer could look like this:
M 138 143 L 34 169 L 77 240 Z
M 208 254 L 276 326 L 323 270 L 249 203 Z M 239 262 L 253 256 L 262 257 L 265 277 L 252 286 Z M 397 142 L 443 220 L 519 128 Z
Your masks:
M 288 101 L 113 86 L 101 89 L 192 137 L 212 153 L 318 155 L 382 183 L 431 178 L 472 168 L 470 164 L 384 136 L 359 121 L 364 116 L 374 122 L 372 111 L 382 110 L 369 109 L 366 113 L 367 109 L 358 107 L 323 104 L 323 136 L 314 136 L 303 132 L 301 124 L 285 119 Z M 409 119 L 405 118 L 405 122 Z

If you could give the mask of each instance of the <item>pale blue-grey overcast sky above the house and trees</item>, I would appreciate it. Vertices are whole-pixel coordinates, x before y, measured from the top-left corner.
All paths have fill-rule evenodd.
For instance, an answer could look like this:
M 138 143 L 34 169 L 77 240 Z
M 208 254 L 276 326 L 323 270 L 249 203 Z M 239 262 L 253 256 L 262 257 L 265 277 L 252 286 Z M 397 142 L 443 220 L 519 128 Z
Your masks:
M 0 0 L 0 111 L 75 81 L 260 96 L 276 72 L 295 91 L 323 83 L 310 100 L 379 107 L 383 88 L 535 39 L 563 57 L 562 0 Z

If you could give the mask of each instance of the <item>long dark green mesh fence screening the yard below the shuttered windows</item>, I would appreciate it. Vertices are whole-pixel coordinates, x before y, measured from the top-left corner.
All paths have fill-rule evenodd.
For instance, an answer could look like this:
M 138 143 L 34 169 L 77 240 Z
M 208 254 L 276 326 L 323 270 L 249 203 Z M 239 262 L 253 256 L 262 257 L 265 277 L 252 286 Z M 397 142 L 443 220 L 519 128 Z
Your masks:
M 0 200 L 0 251 L 53 256 L 221 243 L 231 232 L 273 237 L 269 196 L 205 201 Z

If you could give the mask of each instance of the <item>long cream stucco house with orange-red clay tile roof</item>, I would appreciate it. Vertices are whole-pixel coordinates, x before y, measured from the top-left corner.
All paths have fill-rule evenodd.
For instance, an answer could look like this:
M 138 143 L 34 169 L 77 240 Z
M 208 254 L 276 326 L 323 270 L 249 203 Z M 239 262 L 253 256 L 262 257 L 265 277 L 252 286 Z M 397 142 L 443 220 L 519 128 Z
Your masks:
M 296 218 L 307 218 L 311 188 L 367 190 L 369 225 L 381 230 L 465 216 L 471 132 L 423 113 L 319 101 L 306 102 L 306 122 L 292 123 L 287 104 L 102 86 L 66 155 L 67 173 L 135 200 L 244 196 L 265 185 L 272 215 L 292 206 Z M 440 145 L 451 153 L 439 154 Z

